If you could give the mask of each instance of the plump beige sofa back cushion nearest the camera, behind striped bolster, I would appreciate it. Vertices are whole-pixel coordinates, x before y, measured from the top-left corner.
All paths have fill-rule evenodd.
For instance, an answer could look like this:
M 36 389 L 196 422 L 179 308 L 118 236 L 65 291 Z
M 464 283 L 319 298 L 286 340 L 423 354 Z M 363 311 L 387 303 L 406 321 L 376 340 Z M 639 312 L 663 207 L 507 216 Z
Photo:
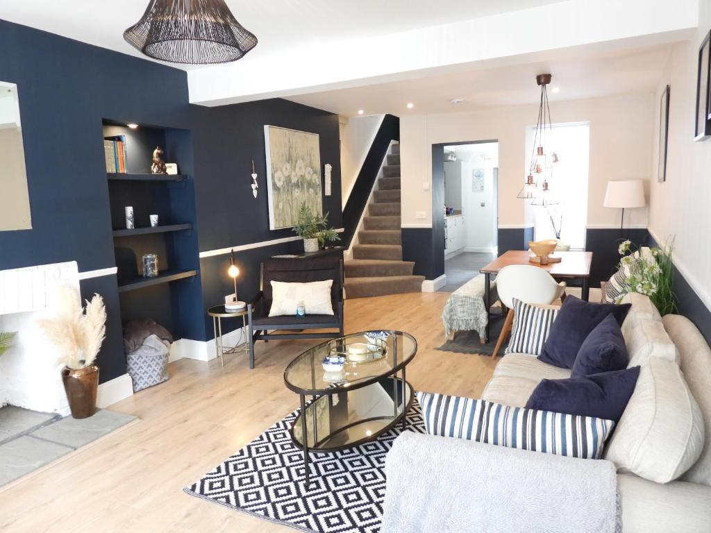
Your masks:
M 680 477 L 704 445 L 701 411 L 676 362 L 650 357 L 604 457 L 657 483 Z

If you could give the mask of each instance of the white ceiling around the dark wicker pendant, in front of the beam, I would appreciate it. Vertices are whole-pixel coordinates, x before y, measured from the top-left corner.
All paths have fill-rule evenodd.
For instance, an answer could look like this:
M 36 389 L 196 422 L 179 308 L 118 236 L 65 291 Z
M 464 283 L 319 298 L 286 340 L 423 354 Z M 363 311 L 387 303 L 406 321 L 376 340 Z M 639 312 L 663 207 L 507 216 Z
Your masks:
M 227 0 L 232 14 L 259 39 L 242 61 L 285 48 L 408 31 L 562 0 Z M 123 32 L 149 0 L 2 0 L 0 19 L 145 57 Z M 200 66 L 174 65 L 192 70 Z

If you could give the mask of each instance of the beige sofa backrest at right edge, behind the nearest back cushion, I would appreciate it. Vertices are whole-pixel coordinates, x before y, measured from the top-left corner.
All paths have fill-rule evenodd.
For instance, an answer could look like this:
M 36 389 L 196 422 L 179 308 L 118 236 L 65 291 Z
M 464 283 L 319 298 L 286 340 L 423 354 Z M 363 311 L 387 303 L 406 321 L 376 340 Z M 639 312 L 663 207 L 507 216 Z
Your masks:
M 670 338 L 677 345 L 681 371 L 701 409 L 705 426 L 706 438 L 701 457 L 681 479 L 711 485 L 711 348 L 688 318 L 667 315 L 663 321 Z

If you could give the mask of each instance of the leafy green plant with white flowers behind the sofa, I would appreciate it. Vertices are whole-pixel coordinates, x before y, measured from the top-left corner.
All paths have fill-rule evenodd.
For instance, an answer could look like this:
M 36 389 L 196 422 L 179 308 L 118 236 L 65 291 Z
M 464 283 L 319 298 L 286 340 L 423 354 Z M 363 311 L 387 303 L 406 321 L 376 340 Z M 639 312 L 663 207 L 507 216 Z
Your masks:
M 672 291 L 672 249 L 673 240 L 662 247 L 651 247 L 647 256 L 636 249 L 631 241 L 621 242 L 617 249 L 622 256 L 619 268 L 624 269 L 626 277 L 623 293 L 616 303 L 625 294 L 636 292 L 649 296 L 662 316 L 674 313 L 676 301 Z

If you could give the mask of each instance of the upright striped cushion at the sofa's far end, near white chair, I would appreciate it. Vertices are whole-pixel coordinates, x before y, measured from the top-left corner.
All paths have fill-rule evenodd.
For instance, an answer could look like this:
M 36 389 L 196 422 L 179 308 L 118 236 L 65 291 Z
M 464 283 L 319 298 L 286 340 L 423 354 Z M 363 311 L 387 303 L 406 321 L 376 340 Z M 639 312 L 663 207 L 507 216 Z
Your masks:
M 513 298 L 513 329 L 506 353 L 540 355 L 559 310 Z

